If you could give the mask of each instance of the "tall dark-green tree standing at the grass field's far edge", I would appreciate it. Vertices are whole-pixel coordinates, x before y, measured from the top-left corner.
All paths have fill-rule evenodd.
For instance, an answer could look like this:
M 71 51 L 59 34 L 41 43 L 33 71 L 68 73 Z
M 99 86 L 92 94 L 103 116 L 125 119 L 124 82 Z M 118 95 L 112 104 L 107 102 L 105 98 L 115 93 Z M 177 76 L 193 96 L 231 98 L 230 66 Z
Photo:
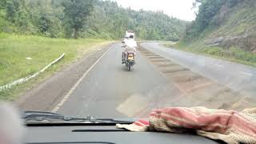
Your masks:
M 82 30 L 86 17 L 94 9 L 94 0 L 66 0 L 64 6 L 66 29 L 74 30 L 74 38 L 78 38 L 79 30 Z M 67 30 L 69 33 L 72 30 Z

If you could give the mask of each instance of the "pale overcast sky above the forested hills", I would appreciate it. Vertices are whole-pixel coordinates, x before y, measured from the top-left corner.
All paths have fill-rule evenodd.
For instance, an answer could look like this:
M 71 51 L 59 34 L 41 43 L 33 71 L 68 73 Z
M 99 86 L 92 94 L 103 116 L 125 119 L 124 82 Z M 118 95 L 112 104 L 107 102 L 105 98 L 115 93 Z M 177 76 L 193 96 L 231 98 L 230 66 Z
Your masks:
M 194 0 L 112 0 L 118 5 L 134 10 L 162 10 L 165 14 L 175 18 L 191 21 L 194 20 L 192 2 Z

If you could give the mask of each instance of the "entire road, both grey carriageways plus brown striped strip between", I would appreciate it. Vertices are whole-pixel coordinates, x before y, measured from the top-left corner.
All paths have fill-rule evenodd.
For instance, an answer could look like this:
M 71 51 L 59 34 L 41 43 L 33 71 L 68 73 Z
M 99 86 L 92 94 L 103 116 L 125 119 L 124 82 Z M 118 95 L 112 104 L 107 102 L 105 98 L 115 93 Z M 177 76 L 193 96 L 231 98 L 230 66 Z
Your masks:
M 150 110 L 166 106 L 227 110 L 254 106 L 254 68 L 156 42 L 141 45 L 131 71 L 121 64 L 121 44 L 110 46 L 54 112 L 80 118 L 145 118 Z

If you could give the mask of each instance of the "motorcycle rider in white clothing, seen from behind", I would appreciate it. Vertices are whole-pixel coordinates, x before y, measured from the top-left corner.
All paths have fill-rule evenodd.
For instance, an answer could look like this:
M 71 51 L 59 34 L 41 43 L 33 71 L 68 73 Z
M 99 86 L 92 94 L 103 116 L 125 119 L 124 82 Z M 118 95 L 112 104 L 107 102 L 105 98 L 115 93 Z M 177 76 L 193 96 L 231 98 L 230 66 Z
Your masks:
M 134 57 L 136 55 L 137 42 L 134 40 L 126 40 L 123 43 L 124 50 L 122 51 L 122 64 L 126 62 L 126 54 L 127 52 L 134 52 Z

